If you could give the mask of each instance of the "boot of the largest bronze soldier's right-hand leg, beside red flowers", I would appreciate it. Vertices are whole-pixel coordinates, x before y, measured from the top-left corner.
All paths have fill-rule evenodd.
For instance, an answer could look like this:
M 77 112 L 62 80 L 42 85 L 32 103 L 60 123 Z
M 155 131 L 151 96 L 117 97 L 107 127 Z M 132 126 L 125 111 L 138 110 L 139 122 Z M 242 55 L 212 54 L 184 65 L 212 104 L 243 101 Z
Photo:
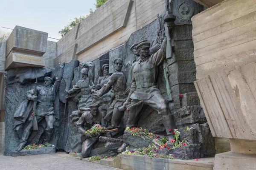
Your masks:
M 163 118 L 163 126 L 166 129 L 166 135 L 167 135 L 166 139 L 168 140 L 167 146 L 172 147 L 173 145 L 172 145 L 171 140 L 175 139 L 172 134 L 172 132 L 175 129 L 175 125 L 174 125 L 172 116 L 166 115 L 166 116 L 163 116 L 162 118 Z

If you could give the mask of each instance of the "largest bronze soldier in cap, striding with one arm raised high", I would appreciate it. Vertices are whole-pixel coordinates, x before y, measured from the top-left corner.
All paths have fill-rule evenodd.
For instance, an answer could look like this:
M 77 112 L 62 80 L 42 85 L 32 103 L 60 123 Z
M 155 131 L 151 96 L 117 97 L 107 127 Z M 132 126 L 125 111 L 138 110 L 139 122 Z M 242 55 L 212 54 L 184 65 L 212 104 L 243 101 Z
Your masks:
M 163 40 L 161 48 L 157 53 L 148 56 L 150 42 L 141 42 L 137 45 L 140 53 L 140 61 L 132 65 L 132 84 L 124 106 L 131 102 L 129 110 L 128 127 L 135 126 L 138 121 L 138 115 L 143 105 L 149 105 L 163 117 L 163 125 L 166 129 L 167 137 L 174 139 L 169 129 L 174 129 L 174 123 L 169 115 L 165 100 L 157 87 L 157 66 L 166 58 L 166 38 Z

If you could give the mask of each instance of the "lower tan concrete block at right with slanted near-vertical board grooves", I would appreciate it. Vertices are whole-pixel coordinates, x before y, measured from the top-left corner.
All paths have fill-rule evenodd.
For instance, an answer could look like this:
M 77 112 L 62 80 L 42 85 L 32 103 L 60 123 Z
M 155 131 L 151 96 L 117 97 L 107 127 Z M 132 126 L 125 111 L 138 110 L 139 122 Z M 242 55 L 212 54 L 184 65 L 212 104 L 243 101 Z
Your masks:
M 195 82 L 213 136 L 256 140 L 255 67 L 252 62 Z

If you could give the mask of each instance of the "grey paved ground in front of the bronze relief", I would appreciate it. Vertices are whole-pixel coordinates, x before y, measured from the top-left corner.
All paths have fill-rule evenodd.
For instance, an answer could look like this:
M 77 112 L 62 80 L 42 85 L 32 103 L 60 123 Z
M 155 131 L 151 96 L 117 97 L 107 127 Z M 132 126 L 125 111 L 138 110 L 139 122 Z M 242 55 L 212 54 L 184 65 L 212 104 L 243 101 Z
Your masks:
M 0 170 L 121 170 L 80 160 L 65 152 L 32 156 L 0 155 Z

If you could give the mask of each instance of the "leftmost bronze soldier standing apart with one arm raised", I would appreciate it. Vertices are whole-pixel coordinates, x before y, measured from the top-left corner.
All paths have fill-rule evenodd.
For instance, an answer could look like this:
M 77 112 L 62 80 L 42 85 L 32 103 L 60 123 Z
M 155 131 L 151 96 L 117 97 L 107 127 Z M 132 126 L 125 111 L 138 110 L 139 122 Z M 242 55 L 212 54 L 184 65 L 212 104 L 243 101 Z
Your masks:
M 61 67 L 61 71 L 57 74 L 54 85 L 51 85 L 53 81 L 50 77 L 44 77 L 45 86 L 38 85 L 36 88 L 38 96 L 34 95 L 35 89 L 28 91 L 26 94 L 27 99 L 37 101 L 36 115 L 34 115 L 36 116 L 37 122 L 40 122 L 42 119 L 45 118 L 45 121 L 47 123 L 47 128 L 45 130 L 45 136 L 44 136 L 44 144 L 49 143 L 49 140 L 52 135 L 53 125 L 55 122 L 53 102 L 55 99 L 55 95 L 59 89 L 59 86 L 61 84 L 65 62 L 62 65 L 60 65 L 60 67 Z M 29 139 L 29 136 L 32 132 L 32 127 L 33 127 L 33 122 L 32 122 L 32 116 L 31 116 L 29 118 L 29 125 L 23 131 L 20 144 L 17 147 L 16 151 L 22 150 L 23 147 L 26 145 L 26 142 Z

